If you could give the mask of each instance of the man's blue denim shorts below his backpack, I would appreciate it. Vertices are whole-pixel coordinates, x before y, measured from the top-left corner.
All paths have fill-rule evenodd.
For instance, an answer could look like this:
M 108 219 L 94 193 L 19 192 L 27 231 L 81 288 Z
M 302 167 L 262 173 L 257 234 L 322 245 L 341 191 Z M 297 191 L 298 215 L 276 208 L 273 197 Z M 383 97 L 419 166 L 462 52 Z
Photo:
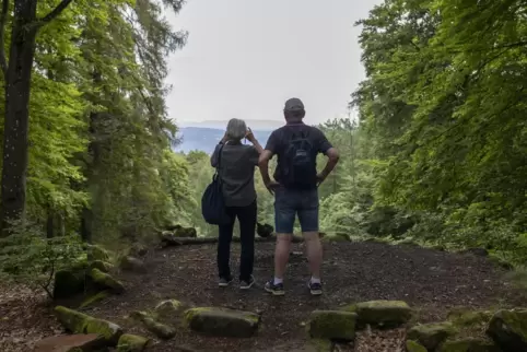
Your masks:
M 274 227 L 279 234 L 292 234 L 298 215 L 302 232 L 318 232 L 318 190 L 285 189 L 274 191 Z

